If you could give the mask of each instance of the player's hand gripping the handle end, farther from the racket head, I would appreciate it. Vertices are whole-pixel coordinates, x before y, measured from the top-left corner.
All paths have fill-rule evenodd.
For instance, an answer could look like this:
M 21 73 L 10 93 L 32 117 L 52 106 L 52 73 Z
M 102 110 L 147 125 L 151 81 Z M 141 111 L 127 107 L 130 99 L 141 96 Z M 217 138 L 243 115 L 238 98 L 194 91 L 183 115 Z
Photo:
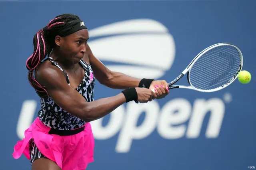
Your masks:
M 156 99 L 156 93 L 154 93 L 150 89 L 136 87 L 135 88 L 138 94 L 138 101 L 140 103 L 148 103 L 148 101 L 152 101 L 153 99 Z

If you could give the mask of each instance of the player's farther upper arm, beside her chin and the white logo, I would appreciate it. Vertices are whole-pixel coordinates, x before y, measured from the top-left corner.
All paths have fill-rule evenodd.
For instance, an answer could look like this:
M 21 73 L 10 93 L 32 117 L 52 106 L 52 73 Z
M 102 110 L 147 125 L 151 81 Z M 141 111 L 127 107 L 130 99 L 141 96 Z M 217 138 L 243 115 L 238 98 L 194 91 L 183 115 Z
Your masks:
M 112 72 L 108 69 L 99 59 L 97 59 L 90 49 L 90 46 L 86 45 L 86 53 L 88 53 L 88 57 L 90 60 L 90 65 L 92 65 L 92 69 L 95 75 L 95 78 L 101 83 L 105 84 L 108 79 L 111 79 Z

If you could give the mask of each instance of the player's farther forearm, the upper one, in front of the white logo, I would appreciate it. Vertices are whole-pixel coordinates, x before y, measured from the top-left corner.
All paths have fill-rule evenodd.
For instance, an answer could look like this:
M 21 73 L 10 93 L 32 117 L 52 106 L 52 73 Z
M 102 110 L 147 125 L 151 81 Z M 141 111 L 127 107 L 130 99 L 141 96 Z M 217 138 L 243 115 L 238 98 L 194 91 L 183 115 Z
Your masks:
M 129 75 L 111 72 L 111 76 L 104 82 L 104 85 L 112 89 L 127 89 L 129 87 L 138 87 L 141 79 Z

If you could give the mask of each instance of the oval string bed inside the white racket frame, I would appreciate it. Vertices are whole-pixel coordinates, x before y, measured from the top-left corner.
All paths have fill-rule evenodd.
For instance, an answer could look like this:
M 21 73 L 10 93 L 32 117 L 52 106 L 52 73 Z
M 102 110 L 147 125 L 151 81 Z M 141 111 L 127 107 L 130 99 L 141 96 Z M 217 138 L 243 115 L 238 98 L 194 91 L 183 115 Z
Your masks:
M 240 53 L 230 45 L 214 47 L 192 66 L 190 83 L 197 89 L 210 90 L 230 81 L 240 66 Z

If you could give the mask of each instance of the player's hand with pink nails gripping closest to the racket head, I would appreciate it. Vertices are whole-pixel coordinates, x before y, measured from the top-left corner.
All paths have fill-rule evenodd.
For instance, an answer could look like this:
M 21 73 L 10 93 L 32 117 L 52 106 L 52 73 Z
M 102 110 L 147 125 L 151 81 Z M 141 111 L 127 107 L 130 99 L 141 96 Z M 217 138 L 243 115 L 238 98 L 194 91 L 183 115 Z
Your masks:
M 152 81 L 149 89 L 150 90 L 154 89 L 154 92 L 156 93 L 156 96 L 157 96 L 156 99 L 162 99 L 170 93 L 169 85 L 165 80 Z

